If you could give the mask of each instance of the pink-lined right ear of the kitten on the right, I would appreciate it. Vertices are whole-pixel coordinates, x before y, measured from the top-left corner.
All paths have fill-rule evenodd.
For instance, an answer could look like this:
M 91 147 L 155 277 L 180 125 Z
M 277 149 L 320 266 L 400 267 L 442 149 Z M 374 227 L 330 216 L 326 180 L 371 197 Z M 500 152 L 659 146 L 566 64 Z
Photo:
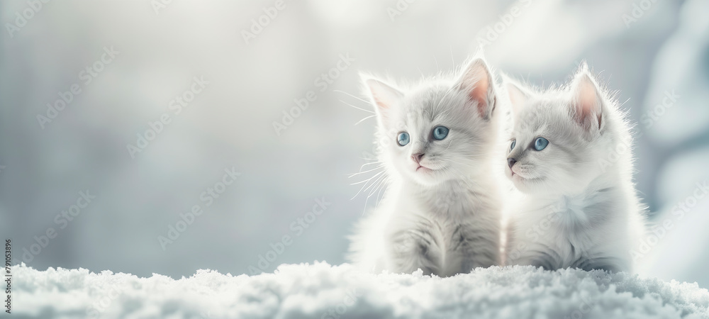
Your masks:
M 574 82 L 571 83 L 571 106 L 574 120 L 586 130 L 601 130 L 603 121 L 603 99 L 596 80 L 588 72 L 584 63 Z

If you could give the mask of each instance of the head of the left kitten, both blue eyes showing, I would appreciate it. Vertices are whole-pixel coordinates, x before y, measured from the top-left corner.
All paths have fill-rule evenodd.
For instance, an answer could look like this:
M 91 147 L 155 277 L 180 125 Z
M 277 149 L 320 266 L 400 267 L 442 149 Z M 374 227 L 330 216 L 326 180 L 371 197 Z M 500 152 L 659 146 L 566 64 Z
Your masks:
M 485 169 L 496 137 L 495 81 L 484 60 L 471 60 L 452 81 L 412 89 L 364 78 L 378 123 L 379 160 L 389 174 L 433 186 Z

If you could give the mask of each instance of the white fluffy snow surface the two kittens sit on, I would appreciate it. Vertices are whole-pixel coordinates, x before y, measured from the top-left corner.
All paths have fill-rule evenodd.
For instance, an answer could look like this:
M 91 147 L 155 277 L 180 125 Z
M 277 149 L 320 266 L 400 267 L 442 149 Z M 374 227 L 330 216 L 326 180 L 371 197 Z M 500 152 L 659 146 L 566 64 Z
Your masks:
M 13 315 L 38 318 L 709 318 L 697 284 L 491 267 L 449 278 L 282 264 L 270 274 L 38 271 L 14 266 Z

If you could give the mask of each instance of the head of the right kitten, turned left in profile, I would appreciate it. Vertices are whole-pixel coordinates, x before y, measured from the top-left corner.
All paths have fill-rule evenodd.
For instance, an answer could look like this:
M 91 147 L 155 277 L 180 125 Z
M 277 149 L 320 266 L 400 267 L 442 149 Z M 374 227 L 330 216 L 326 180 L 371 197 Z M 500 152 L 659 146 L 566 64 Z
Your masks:
M 585 64 L 564 89 L 537 94 L 504 82 L 514 118 L 506 175 L 517 189 L 573 194 L 602 174 L 615 106 Z

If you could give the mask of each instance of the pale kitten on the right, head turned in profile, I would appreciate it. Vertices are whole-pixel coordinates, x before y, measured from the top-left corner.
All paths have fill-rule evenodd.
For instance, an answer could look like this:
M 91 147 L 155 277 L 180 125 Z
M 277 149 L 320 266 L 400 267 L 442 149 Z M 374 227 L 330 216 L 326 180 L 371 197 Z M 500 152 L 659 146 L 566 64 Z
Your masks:
M 506 264 L 632 271 L 644 216 L 618 102 L 585 63 L 564 89 L 535 93 L 504 82 L 514 121 L 506 175 L 521 192 Z

